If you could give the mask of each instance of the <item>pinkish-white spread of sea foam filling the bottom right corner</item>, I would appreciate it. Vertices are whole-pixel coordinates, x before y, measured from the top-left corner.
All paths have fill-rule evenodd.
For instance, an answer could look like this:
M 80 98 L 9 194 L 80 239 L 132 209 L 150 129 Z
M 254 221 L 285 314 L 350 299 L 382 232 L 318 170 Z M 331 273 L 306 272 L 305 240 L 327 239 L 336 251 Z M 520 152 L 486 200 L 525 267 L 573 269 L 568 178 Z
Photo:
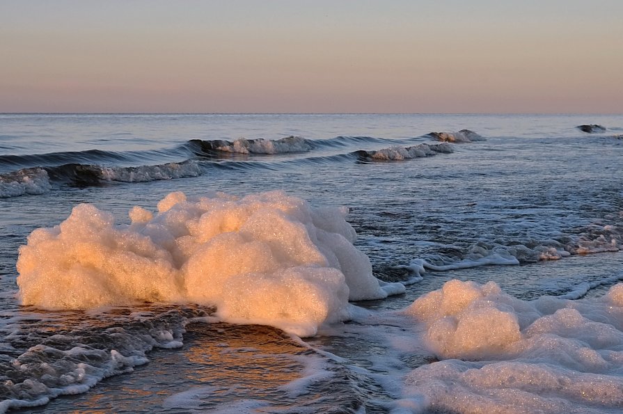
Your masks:
M 521 301 L 489 282 L 447 282 L 404 313 L 441 360 L 405 378 L 427 410 L 602 413 L 623 406 L 623 285 L 603 298 Z

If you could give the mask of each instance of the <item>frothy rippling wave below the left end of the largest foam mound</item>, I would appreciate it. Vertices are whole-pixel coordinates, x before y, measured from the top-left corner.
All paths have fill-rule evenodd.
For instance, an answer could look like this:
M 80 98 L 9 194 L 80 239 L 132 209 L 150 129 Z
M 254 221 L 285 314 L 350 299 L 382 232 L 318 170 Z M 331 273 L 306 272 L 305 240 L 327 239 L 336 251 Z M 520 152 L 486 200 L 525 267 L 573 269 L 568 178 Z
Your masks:
M 0 413 L 86 392 L 108 376 L 132 372 L 148 362 L 148 351 L 182 347 L 189 319 L 211 312 L 192 305 L 144 305 L 99 315 L 65 312 L 61 321 L 46 312 L 29 312 L 29 324 L 16 318 L 9 341 L 21 353 L 0 360 Z

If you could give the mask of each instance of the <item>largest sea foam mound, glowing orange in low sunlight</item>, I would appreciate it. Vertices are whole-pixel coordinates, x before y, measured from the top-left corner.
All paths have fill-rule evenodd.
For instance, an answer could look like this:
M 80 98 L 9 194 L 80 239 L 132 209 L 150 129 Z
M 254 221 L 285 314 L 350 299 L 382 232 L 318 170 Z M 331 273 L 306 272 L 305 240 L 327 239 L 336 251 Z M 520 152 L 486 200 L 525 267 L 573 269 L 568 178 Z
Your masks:
M 226 321 L 314 335 L 347 319 L 348 301 L 404 292 L 372 276 L 352 243 L 347 211 L 317 209 L 280 191 L 244 198 L 171 193 L 130 225 L 78 205 L 19 249 L 22 303 L 88 309 L 136 301 L 216 305 Z

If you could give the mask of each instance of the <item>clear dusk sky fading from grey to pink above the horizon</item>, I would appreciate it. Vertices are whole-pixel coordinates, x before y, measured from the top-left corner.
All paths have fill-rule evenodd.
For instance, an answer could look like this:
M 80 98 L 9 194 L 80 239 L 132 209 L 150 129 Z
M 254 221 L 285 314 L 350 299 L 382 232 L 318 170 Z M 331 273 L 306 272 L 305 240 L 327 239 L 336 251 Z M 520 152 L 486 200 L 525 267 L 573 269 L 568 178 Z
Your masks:
M 0 0 L 0 112 L 623 113 L 623 1 Z

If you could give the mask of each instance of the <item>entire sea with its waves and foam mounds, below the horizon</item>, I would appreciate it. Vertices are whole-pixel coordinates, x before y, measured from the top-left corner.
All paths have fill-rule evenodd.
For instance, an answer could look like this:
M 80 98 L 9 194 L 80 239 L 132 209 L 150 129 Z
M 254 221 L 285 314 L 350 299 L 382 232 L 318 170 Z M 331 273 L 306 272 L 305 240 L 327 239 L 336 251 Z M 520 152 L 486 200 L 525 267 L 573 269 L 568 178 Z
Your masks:
M 623 116 L 0 114 L 0 412 L 618 413 L 622 156 Z

